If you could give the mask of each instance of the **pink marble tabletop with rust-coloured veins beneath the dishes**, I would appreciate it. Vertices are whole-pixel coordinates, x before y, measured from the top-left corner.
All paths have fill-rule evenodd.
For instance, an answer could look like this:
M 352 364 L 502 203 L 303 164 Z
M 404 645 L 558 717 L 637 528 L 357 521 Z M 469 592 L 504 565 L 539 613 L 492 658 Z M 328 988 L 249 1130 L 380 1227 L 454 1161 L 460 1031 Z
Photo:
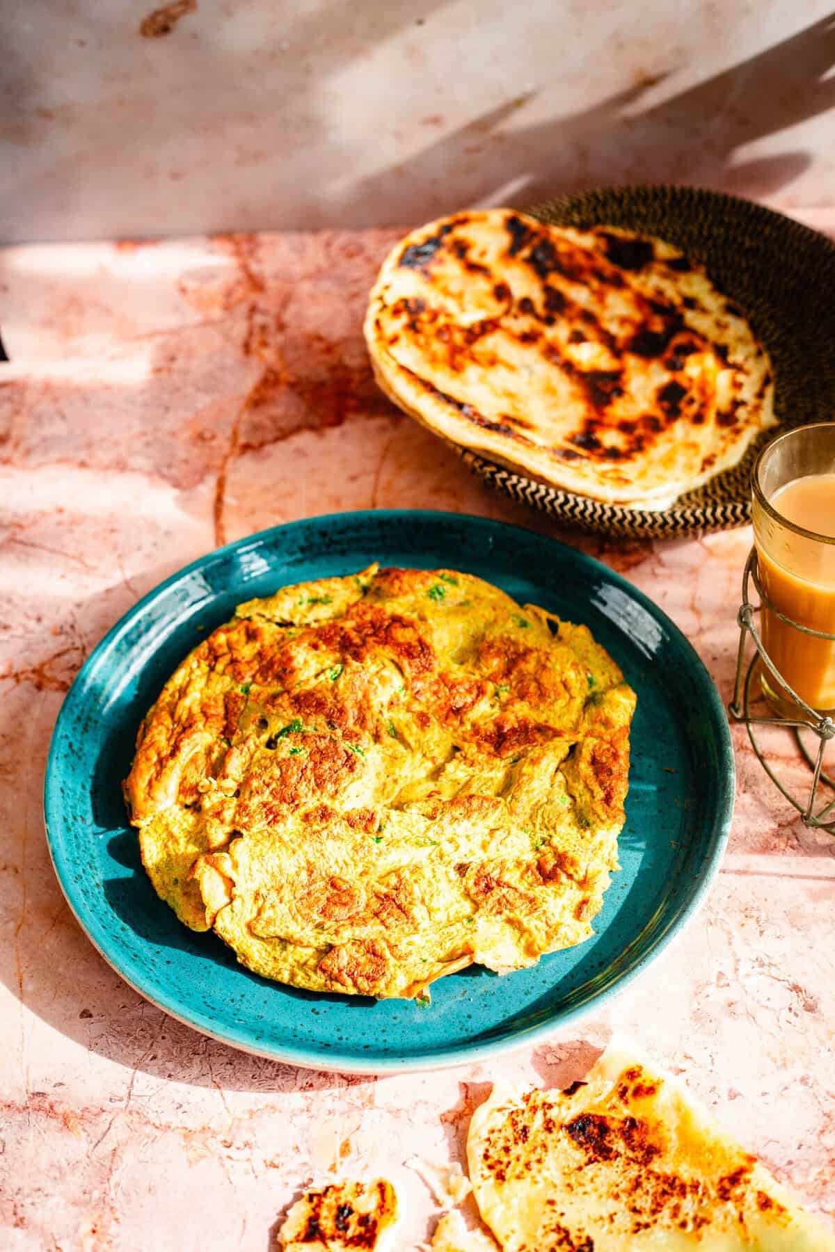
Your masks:
M 795 819 L 736 727 L 737 808 L 710 898 L 605 1010 L 492 1064 L 357 1078 L 204 1039 L 130 990 L 73 920 L 40 813 L 73 675 L 103 632 L 215 543 L 332 510 L 442 507 L 558 535 L 681 626 L 727 700 L 750 532 L 616 543 L 468 477 L 376 391 L 359 334 L 393 232 L 0 253 L 0 1243 L 264 1252 L 341 1159 L 383 1171 L 401 1246 L 437 1209 L 414 1154 L 462 1159 L 497 1077 L 563 1083 L 612 1033 L 684 1075 L 835 1219 L 835 843 Z M 795 785 L 802 767 L 774 744 Z

